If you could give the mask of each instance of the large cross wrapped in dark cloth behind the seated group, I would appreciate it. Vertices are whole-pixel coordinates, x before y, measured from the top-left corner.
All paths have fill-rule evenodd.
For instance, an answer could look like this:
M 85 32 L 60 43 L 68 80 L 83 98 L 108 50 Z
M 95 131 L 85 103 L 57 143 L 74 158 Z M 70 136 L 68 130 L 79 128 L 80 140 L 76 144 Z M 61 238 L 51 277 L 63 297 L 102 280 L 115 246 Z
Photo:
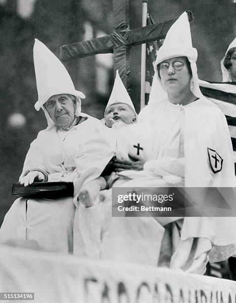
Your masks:
M 130 48 L 142 43 L 163 39 L 176 19 L 130 30 L 128 11 L 129 0 L 113 0 L 113 32 L 101 38 L 61 46 L 61 60 L 68 61 L 97 53 L 113 52 L 114 76 L 116 70 L 119 69 L 120 77 L 129 92 Z

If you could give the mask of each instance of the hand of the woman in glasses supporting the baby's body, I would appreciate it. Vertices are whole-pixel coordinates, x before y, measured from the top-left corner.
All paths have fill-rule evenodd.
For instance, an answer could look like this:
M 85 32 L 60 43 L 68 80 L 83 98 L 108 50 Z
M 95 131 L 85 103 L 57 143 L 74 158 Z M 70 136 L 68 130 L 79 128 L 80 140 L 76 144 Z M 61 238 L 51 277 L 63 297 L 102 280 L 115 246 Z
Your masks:
M 115 160 L 113 166 L 115 167 L 115 171 L 123 171 L 123 170 L 143 170 L 143 165 L 145 163 L 144 160 L 140 159 L 136 155 L 129 153 L 129 160 Z

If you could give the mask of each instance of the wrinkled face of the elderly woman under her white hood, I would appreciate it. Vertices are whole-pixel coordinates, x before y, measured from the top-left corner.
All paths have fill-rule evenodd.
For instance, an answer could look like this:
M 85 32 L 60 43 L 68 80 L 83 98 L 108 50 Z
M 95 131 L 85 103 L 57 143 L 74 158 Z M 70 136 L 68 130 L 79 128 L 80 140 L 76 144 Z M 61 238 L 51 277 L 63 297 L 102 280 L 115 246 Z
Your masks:
M 63 129 L 68 128 L 75 119 L 76 99 L 74 96 L 68 94 L 51 96 L 44 107 L 53 122 Z

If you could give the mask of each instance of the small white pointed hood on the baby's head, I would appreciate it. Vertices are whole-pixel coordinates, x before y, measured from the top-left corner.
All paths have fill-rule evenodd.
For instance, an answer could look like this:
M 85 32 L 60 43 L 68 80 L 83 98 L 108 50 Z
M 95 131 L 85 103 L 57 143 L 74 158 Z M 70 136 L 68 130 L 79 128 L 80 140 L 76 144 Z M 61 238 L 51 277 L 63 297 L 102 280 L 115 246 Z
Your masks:
M 107 102 L 105 112 L 106 112 L 106 109 L 108 106 L 110 106 L 112 104 L 116 104 L 116 103 L 128 104 L 133 109 L 135 114 L 137 114 L 136 110 L 135 110 L 135 106 L 120 78 L 118 70 L 116 71 L 116 78 L 115 78 L 114 86 L 113 86 L 113 89 L 111 92 L 111 96 Z

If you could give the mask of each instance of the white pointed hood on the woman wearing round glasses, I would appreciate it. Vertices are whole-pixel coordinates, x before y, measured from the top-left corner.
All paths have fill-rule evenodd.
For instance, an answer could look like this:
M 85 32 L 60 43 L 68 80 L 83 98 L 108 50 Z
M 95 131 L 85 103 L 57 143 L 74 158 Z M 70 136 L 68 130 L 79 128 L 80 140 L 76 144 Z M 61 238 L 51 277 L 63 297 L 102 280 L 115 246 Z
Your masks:
M 192 71 L 193 83 L 190 89 L 194 96 L 201 98 L 203 95 L 199 89 L 196 67 L 197 50 L 192 47 L 187 12 L 184 12 L 171 26 L 162 47 L 158 50 L 156 61 L 154 63 L 155 74 L 148 104 L 154 104 L 168 98 L 167 93 L 161 85 L 161 80 L 158 77 L 157 65 L 163 60 L 180 56 L 188 57 Z

